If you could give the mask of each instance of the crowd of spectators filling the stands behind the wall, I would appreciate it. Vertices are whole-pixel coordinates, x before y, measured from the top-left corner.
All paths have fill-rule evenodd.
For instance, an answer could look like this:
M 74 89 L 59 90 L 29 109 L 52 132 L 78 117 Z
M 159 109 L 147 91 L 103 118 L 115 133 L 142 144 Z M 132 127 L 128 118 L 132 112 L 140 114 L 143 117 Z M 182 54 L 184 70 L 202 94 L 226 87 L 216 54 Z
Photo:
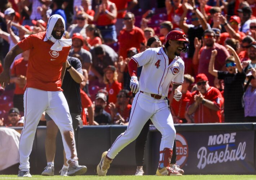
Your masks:
M 0 73 L 7 52 L 30 34 L 45 31 L 49 17 L 59 14 L 66 23 L 65 38 L 72 39 L 69 56 L 82 64 L 83 125 L 127 125 L 134 97 L 129 87 L 130 58 L 147 48 L 164 46 L 169 31 L 181 30 L 190 43 L 181 54 L 185 75 L 179 102 L 172 100 L 172 85 L 169 88 L 174 122 L 256 122 L 256 2 L 147 2 L 2 0 Z M 29 53 L 16 57 L 10 85 L 5 90 L 0 87 L 1 100 L 13 98 L 11 105 L 0 102 L 1 126 L 16 126 L 18 121 L 12 119 L 24 113 Z M 44 115 L 41 120 L 43 125 Z

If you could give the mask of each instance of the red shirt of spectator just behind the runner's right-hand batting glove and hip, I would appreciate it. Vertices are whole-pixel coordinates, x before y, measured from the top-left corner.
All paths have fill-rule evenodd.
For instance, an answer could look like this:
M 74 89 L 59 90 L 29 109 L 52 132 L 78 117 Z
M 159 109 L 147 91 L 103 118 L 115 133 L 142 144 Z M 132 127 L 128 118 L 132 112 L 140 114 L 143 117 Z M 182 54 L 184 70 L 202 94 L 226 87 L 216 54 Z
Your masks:
M 178 116 L 181 119 L 185 119 L 185 111 L 187 108 L 187 104 L 190 102 L 190 99 L 191 93 L 187 91 L 184 94 L 182 93 L 180 101 L 172 100 L 171 107 L 175 113 L 175 116 Z

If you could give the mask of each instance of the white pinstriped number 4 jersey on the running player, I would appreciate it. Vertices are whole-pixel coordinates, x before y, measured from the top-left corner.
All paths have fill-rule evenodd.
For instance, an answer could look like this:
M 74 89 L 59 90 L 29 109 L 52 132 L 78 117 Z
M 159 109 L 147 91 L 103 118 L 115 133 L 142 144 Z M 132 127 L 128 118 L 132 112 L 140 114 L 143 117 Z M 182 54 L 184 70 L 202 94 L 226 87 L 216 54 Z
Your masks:
M 132 59 L 142 67 L 140 75 L 140 91 L 161 96 L 168 95 L 171 81 L 181 84 L 184 77 L 184 62 L 176 56 L 168 65 L 169 60 L 163 48 L 149 48 L 136 54 Z

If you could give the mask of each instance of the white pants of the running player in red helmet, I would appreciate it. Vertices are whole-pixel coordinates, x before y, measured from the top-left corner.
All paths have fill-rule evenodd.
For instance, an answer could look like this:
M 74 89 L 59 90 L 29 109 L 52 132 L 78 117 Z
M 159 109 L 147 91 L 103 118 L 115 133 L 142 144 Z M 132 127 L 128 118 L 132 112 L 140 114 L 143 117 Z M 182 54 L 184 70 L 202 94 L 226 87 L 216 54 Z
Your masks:
M 107 156 L 114 159 L 125 146 L 134 141 L 149 118 L 162 134 L 160 151 L 164 148 L 172 149 L 176 130 L 166 101 L 164 99 L 157 100 L 138 92 L 133 99 L 127 130 L 116 138 Z M 160 158 L 162 159 L 162 157 Z

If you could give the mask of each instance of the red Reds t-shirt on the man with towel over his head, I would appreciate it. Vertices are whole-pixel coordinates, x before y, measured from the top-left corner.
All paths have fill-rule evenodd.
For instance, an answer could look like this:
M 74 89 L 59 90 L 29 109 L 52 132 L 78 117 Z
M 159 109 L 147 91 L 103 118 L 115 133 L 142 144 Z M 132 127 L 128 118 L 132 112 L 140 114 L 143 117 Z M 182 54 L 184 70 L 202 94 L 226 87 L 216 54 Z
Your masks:
M 46 32 L 32 34 L 18 43 L 23 50 L 29 50 L 27 67 L 27 87 L 44 91 L 62 91 L 61 69 L 66 62 L 71 46 L 63 47 L 61 51 L 50 48 L 52 41 L 44 41 Z

